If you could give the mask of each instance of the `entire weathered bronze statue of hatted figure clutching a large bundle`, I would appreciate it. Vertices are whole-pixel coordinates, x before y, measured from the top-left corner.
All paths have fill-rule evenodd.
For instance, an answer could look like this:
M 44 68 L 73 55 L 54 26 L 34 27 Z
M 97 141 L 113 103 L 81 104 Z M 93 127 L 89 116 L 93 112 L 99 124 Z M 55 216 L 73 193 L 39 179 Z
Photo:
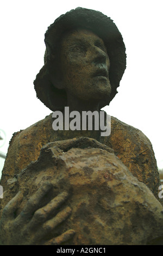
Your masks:
M 82 113 L 109 105 L 126 69 L 122 35 L 109 17 L 72 10 L 48 28 L 45 43 L 34 86 L 47 107 Z M 100 130 L 54 131 L 52 123 L 51 114 L 11 139 L 1 179 L 1 243 L 162 240 L 160 179 L 149 139 L 114 117 L 108 137 Z

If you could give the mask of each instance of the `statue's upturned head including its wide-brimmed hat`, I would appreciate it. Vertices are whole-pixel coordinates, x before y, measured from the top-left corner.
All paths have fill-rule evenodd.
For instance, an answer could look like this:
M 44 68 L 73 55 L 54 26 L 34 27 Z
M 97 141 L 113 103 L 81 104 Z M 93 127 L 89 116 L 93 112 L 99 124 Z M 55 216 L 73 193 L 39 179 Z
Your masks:
M 45 44 L 45 65 L 34 86 L 48 108 L 61 110 L 70 97 L 109 105 L 126 69 L 122 35 L 109 17 L 71 10 L 48 27 Z

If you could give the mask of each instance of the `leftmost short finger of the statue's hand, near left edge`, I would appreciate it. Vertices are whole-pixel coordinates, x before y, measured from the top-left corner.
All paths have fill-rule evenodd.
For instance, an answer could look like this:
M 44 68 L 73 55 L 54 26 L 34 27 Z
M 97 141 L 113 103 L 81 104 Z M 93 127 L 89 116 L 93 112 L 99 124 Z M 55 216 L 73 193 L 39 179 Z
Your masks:
M 2 212 L 2 218 L 7 221 L 15 217 L 15 211 L 20 206 L 23 199 L 22 192 L 18 192 L 14 198 L 12 198 L 9 203 L 4 207 Z

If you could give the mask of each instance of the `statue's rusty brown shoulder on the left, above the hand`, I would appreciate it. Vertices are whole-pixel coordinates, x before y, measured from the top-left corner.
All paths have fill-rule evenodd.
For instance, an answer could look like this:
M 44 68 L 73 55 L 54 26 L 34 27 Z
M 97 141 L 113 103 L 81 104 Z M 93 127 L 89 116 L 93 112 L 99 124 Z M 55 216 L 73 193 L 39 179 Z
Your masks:
M 50 114 L 27 129 L 12 135 L 2 171 L 3 186 L 8 179 L 19 173 L 31 161 L 37 160 L 40 149 L 49 142 L 52 132 L 52 114 Z

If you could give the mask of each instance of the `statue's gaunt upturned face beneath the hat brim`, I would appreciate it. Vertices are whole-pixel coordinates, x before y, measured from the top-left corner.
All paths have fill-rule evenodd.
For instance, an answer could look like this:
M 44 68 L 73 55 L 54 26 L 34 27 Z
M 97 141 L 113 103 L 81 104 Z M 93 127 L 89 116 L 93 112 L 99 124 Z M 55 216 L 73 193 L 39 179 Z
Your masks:
M 62 85 L 67 97 L 99 101 L 111 92 L 110 61 L 104 42 L 96 34 L 79 29 L 61 42 Z

